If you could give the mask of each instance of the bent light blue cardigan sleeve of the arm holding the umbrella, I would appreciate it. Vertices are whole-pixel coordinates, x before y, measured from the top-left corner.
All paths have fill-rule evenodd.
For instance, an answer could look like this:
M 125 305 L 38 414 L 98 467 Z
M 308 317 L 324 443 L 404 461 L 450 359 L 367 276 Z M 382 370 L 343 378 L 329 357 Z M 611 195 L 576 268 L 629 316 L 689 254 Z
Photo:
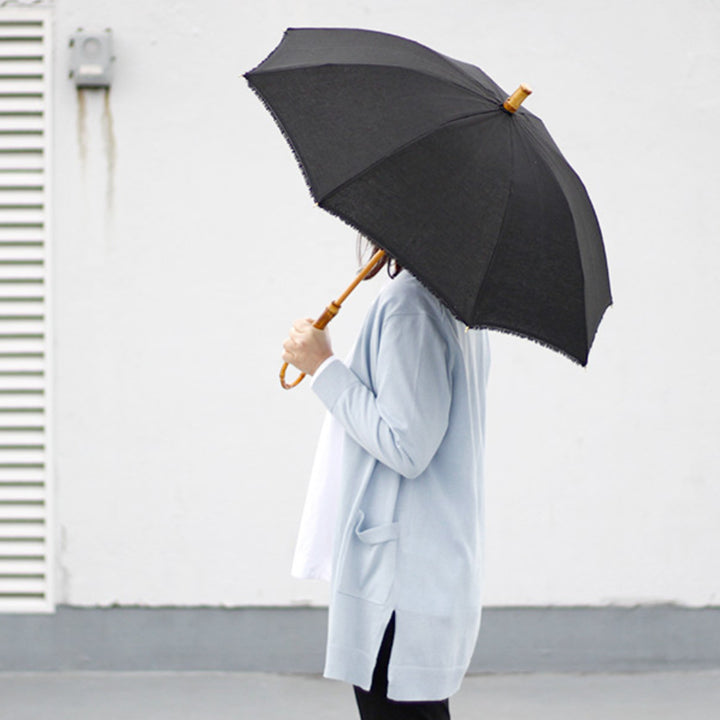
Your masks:
M 343 362 L 332 362 L 313 391 L 347 434 L 400 475 L 428 466 L 448 427 L 452 388 L 447 342 L 423 313 L 386 317 L 371 389 Z

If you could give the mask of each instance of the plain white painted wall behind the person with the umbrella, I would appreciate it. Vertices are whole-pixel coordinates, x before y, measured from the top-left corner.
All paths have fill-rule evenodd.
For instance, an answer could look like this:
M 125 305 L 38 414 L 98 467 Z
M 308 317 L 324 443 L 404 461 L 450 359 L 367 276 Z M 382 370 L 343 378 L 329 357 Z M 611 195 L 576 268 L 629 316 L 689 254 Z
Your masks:
M 354 235 L 239 77 L 287 26 L 394 32 L 529 82 L 599 215 L 615 306 L 588 368 L 492 337 L 486 602 L 720 602 L 717 2 L 56 8 L 58 602 L 325 597 L 288 573 L 322 410 L 277 370 L 292 319 L 351 278 Z M 78 26 L 111 27 L 117 55 L 84 122 Z M 333 324 L 338 352 L 374 292 Z

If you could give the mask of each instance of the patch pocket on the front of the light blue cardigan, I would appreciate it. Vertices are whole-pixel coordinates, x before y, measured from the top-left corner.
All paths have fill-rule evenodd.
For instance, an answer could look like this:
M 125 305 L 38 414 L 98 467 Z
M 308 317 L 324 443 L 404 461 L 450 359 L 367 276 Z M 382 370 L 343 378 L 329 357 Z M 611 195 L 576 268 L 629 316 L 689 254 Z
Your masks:
M 369 602 L 387 601 L 395 578 L 398 523 L 364 528 L 365 514 L 358 510 L 348 538 L 338 592 Z

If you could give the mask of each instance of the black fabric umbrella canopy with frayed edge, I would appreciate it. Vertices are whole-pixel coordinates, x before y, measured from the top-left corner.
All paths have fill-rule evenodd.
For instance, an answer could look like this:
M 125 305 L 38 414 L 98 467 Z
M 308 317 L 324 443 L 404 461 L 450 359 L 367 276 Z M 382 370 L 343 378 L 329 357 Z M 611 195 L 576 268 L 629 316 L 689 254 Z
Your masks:
M 320 207 L 468 326 L 587 363 L 611 303 L 595 212 L 543 123 L 482 70 L 394 35 L 290 29 L 245 77 Z

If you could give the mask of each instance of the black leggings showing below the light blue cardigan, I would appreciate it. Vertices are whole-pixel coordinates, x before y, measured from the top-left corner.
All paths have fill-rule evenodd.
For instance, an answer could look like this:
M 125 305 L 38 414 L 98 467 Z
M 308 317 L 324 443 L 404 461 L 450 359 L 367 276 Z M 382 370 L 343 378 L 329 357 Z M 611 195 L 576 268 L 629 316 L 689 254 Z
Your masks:
M 394 636 L 395 613 L 390 618 L 380 645 L 370 691 L 354 686 L 360 717 L 362 720 L 450 720 L 450 703 L 447 699 L 421 702 L 388 700 L 387 667 Z

